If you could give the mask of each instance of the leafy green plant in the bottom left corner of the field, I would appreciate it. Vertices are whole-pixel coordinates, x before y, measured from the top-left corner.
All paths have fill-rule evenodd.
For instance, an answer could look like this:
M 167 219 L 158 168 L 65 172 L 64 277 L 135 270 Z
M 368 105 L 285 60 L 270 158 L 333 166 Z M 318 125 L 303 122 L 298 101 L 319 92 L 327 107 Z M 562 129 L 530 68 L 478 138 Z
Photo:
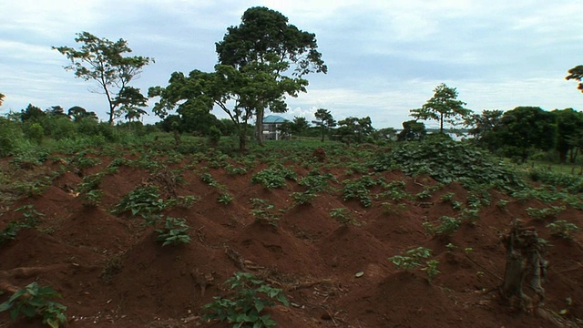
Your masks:
M 50 286 L 39 286 L 36 282 L 29 283 L 25 288 L 16 291 L 6 302 L 0 304 L 0 312 L 10 310 L 10 318 L 16 321 L 18 315 L 27 318 L 40 316 L 43 323 L 52 328 L 65 326 L 66 306 L 51 301 L 61 295 Z

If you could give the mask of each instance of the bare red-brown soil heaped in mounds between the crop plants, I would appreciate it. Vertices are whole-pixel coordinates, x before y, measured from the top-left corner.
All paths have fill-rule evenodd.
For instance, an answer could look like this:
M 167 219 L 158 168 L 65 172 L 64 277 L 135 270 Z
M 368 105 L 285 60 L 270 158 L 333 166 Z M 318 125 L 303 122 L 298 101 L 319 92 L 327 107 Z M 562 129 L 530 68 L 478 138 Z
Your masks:
M 96 173 L 108 160 L 82 173 Z M 18 200 L 0 218 L 0 229 L 4 229 L 7 222 L 22 216 L 13 210 L 28 204 L 45 214 L 37 229 L 20 231 L 14 241 L 0 246 L 0 272 L 38 268 L 33 275 L 5 276 L 18 287 L 30 282 L 53 286 L 68 307 L 70 327 L 227 327 L 227 323 L 206 323 L 199 316 L 213 296 L 228 294 L 222 282 L 238 271 L 255 273 L 283 289 L 292 306 L 269 310 L 283 328 L 551 327 L 559 323 L 545 313 L 563 309 L 568 310 L 571 322 L 583 318 L 582 237 L 576 235 L 574 241 L 553 238 L 548 222 L 530 220 L 525 209 L 547 206 L 537 200 L 518 202 L 491 191 L 491 205 L 481 210 L 475 225 L 463 224 L 446 240 L 432 239 L 422 223 L 455 215 L 440 196 L 454 192 L 455 200 L 465 202 L 467 191 L 456 183 L 435 191 L 423 203 L 403 200 L 403 208 L 387 213 L 382 202 L 397 202 L 373 199 L 372 207 L 363 208 L 334 192 L 294 206 L 290 193 L 303 190 L 296 182 L 266 190 L 251 184 L 252 172 L 228 175 L 223 169 L 210 169 L 234 197 L 222 204 L 217 201 L 222 191 L 202 182 L 195 169 L 184 169 L 184 182 L 167 190 L 200 197 L 190 209 L 168 212 L 192 227 L 189 244 L 162 247 L 155 241 L 154 228 L 142 228 L 141 219 L 108 212 L 142 183 L 165 190 L 147 169 L 122 166 L 118 173 L 107 175 L 100 184 L 105 194 L 97 208 L 82 204 L 73 191 L 82 179 L 65 172 L 44 193 Z M 307 174 L 300 166 L 294 169 L 300 177 Z M 331 171 L 340 181 L 357 178 L 344 176 L 342 169 Z M 423 190 L 420 184 L 435 183 L 432 179 L 419 182 L 399 172 L 383 176 L 388 181 L 404 180 L 410 193 Z M 275 209 L 284 210 L 277 227 L 254 221 L 251 198 L 269 200 Z M 501 198 L 510 200 L 506 209 L 496 206 Z M 330 218 L 330 210 L 343 207 L 363 225 L 343 225 Z M 548 261 L 544 312 L 518 313 L 499 297 L 506 261 L 500 237 L 514 218 L 536 226 L 539 235 L 552 244 L 544 254 Z M 583 227 L 579 210 L 565 210 L 558 218 Z M 449 251 L 447 243 L 456 249 Z M 431 283 L 425 272 L 399 271 L 388 260 L 418 246 L 432 249 L 439 261 L 442 273 Z M 466 248 L 473 251 L 468 254 Z M 357 278 L 357 272 L 363 276 Z M 0 295 L 0 302 L 8 296 Z M 12 323 L 8 313 L 0 313 L 0 327 L 4 326 L 42 325 L 26 320 Z

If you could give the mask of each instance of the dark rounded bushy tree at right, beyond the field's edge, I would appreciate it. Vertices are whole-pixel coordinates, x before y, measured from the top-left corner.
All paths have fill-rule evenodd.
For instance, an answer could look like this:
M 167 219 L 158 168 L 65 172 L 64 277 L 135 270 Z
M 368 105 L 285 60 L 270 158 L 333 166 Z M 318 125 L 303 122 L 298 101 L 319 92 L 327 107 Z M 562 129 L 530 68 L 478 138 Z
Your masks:
M 555 116 L 538 107 L 517 107 L 500 119 L 496 146 L 505 147 L 506 155 L 526 162 L 532 149 L 547 151 L 555 144 Z

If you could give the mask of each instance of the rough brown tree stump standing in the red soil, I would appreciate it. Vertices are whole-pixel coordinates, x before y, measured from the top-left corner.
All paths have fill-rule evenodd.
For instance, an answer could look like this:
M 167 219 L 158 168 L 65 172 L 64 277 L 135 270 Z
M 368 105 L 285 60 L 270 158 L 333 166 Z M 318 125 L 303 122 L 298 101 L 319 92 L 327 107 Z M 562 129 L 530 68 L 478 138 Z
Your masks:
M 502 297 L 519 311 L 534 310 L 545 301 L 541 280 L 545 278 L 547 261 L 545 251 L 534 227 L 523 227 L 514 220 L 510 232 L 503 238 L 506 247 L 506 271 L 502 284 Z M 535 292 L 536 301 L 523 291 L 523 285 Z M 530 309 L 529 309 L 530 308 Z

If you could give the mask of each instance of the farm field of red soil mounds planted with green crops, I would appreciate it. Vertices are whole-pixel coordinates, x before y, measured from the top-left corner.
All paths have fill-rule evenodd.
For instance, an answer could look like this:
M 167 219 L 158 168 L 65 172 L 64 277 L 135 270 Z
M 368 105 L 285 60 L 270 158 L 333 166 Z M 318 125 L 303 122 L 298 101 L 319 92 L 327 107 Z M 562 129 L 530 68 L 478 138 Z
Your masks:
M 261 313 L 283 328 L 583 323 L 581 193 L 453 141 L 245 154 L 152 143 L 0 159 L 0 170 L 28 179 L 0 212 L 0 302 L 51 286 L 70 327 L 230 327 L 203 307 L 233 296 L 223 282 L 235 272 L 281 289 L 289 306 Z M 522 304 L 500 292 L 516 219 L 542 239 L 538 306 L 528 280 Z M 172 222 L 189 242 L 162 245 Z M 416 248 L 429 251 L 418 265 L 395 265 Z M 46 325 L 0 313 L 11 326 Z

